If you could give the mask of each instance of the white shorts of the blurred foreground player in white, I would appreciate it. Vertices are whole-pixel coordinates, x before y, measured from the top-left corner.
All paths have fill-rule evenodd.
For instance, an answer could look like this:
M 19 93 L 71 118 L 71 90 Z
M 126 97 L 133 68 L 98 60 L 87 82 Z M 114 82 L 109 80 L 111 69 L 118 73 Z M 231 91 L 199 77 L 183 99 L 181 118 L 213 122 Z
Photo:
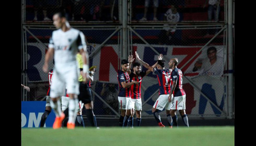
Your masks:
M 75 66 L 76 67 L 76 66 Z M 50 97 L 56 98 L 65 96 L 65 85 L 67 87 L 67 94 L 79 95 L 79 82 L 77 69 L 67 68 L 65 72 L 58 72 L 53 70 L 53 81 L 50 89 Z

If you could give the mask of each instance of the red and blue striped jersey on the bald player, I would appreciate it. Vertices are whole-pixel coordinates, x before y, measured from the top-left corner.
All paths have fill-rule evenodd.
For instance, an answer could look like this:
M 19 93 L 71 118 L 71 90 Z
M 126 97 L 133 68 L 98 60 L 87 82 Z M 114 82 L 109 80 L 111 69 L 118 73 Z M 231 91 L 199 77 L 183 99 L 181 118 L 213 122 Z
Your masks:
M 185 91 L 182 88 L 182 77 L 183 77 L 182 71 L 178 68 L 174 68 L 172 71 L 171 77 L 172 77 L 172 82 L 177 80 L 173 97 L 185 95 Z

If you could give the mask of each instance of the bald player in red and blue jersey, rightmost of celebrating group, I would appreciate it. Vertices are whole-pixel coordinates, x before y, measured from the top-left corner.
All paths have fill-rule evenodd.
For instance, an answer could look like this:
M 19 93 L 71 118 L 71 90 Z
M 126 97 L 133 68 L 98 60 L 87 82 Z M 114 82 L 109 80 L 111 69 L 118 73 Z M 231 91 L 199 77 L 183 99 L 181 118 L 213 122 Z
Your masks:
M 172 89 L 171 93 L 174 91 L 173 98 L 169 95 L 168 101 L 172 103 L 170 114 L 172 116 L 172 121 L 175 120 L 175 111 L 179 110 L 179 114 L 181 114 L 182 121 L 185 126 L 189 127 L 188 125 L 188 116 L 185 112 L 186 109 L 186 94 L 182 88 L 182 71 L 177 68 L 178 61 L 175 58 L 170 59 L 168 63 L 169 67 L 172 69 Z

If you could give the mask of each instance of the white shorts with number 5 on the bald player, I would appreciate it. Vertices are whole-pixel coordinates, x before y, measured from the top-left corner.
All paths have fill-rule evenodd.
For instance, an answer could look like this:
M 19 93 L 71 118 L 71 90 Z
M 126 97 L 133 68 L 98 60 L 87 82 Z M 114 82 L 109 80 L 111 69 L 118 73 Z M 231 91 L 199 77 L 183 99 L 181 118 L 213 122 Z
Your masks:
M 173 97 L 171 109 L 173 110 L 186 109 L 186 95 Z

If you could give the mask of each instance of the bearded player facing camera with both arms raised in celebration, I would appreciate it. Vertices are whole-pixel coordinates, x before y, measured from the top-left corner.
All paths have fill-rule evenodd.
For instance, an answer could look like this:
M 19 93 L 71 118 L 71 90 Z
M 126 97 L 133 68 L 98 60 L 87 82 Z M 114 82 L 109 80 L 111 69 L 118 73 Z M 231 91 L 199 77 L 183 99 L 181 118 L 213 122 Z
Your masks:
M 163 55 L 160 54 L 158 56 L 158 60 L 162 60 Z M 157 62 L 152 66 L 155 68 Z M 139 62 L 135 62 L 133 64 L 133 72 L 129 74 L 130 82 L 137 81 L 138 85 L 131 85 L 131 99 L 132 99 L 132 115 L 130 116 L 129 123 L 131 127 L 133 127 L 133 115 L 134 109 L 136 110 L 136 126 L 139 127 L 141 124 L 141 111 L 142 111 L 142 102 L 141 102 L 141 82 L 142 78 L 148 75 L 151 71 L 148 69 L 147 71 L 141 71 L 141 64 Z

